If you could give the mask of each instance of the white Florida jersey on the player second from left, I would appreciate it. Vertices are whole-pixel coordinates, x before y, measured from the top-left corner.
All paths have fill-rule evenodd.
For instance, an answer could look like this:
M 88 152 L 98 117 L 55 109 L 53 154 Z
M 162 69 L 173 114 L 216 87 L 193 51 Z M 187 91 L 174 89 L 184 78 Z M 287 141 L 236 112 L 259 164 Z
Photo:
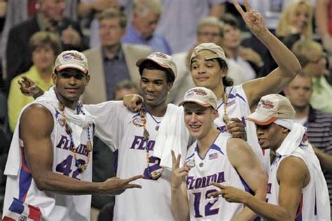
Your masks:
M 113 220 L 174 220 L 171 211 L 170 171 L 164 170 L 157 180 L 149 177 L 146 159 L 146 145 L 148 155 L 153 155 L 155 138 L 162 117 L 146 113 L 146 129 L 149 139 L 144 141 L 144 127 L 139 113 L 132 113 L 123 106 L 122 101 L 107 101 L 97 106 L 85 106 L 92 115 L 98 115 L 104 121 L 101 129 L 103 134 L 112 136 L 115 143 L 117 162 L 116 176 L 130 178 L 144 174 L 143 179 L 134 183 L 142 189 L 126 190 L 116 196 Z M 97 112 L 96 112 L 97 111 Z M 114 131 L 114 134 L 113 132 Z M 160 169 L 159 159 L 150 158 L 150 172 Z

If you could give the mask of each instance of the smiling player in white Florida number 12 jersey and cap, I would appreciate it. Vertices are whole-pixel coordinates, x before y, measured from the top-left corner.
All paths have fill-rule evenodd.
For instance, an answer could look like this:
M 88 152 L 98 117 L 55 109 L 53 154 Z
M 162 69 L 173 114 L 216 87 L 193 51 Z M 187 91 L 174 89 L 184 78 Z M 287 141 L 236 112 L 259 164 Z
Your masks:
M 255 213 L 243 204 L 229 204 L 208 197 L 217 191 L 212 183 L 227 183 L 265 199 L 268 177 L 249 145 L 221 133 L 214 126 L 217 99 L 205 87 L 184 95 L 184 121 L 196 139 L 188 150 L 185 166 L 172 152 L 172 210 L 177 220 L 253 220 Z M 186 181 L 185 181 L 186 178 Z

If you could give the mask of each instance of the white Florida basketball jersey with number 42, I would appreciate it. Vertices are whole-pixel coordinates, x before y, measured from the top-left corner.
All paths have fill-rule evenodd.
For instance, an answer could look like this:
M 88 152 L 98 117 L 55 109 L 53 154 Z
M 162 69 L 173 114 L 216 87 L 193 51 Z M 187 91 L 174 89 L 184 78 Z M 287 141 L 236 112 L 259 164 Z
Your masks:
M 51 134 L 53 145 L 53 172 L 60 173 L 78 180 L 92 180 L 92 152 L 90 152 L 90 163 L 83 173 L 78 172 L 78 164 L 85 164 L 88 161 L 86 144 L 88 143 L 88 132 L 76 124 L 69 122 L 73 129 L 73 141 L 77 148 L 76 159 L 71 150 L 70 138 L 62 124 L 62 115 L 49 104 L 42 104 L 53 115 L 54 129 Z M 67 111 L 68 108 L 66 108 Z M 20 122 L 20 120 L 18 120 Z M 16 127 L 19 129 L 19 127 Z M 90 141 L 92 142 L 93 127 L 90 127 Z M 24 201 L 32 206 L 39 207 L 45 220 L 90 220 L 91 196 L 55 194 L 38 190 L 32 173 L 30 173 L 25 147 L 22 140 L 20 143 L 20 159 L 22 166 L 18 176 L 8 176 L 6 183 L 4 214 L 11 204 L 13 197 Z M 11 159 L 8 159 L 11 161 Z

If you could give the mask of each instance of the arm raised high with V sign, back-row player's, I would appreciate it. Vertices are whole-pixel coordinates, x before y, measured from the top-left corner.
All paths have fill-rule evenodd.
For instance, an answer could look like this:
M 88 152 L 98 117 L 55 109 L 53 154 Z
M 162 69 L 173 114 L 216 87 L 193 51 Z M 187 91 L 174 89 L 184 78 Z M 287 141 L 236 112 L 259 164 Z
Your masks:
M 268 76 L 244 83 L 243 88 L 247 95 L 249 106 L 254 108 L 264 95 L 281 92 L 300 72 L 301 66 L 291 50 L 268 30 L 261 14 L 250 10 L 247 0 L 244 1 L 247 12 L 244 12 L 235 0 L 233 0 L 233 3 L 242 15 L 251 33 L 268 48 L 273 59 L 278 64 L 277 69 L 270 72 Z

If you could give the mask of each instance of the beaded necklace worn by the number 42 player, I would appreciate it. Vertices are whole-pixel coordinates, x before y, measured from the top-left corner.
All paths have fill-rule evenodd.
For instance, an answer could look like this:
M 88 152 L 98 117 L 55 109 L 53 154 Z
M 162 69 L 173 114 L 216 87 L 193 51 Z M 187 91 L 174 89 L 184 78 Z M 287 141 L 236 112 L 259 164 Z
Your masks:
M 66 133 L 69 135 L 69 138 L 70 138 L 71 151 L 73 152 L 73 157 L 74 157 L 74 160 L 75 160 L 75 166 L 78 167 L 78 172 L 79 173 L 83 173 L 83 171 L 85 171 L 85 169 L 88 167 L 88 164 L 90 162 L 90 152 L 92 151 L 92 143 L 91 143 L 91 140 L 90 140 L 90 124 L 88 124 L 87 130 L 86 130 L 87 134 L 88 134 L 88 143 L 86 144 L 86 150 L 88 152 L 88 160 L 85 164 L 82 164 L 81 160 L 78 160 L 77 157 L 76 157 L 77 148 L 74 144 L 73 129 L 71 129 L 71 127 L 68 123 L 66 114 L 64 113 L 64 108 L 65 107 L 66 106 L 64 106 L 64 104 L 61 101 L 59 101 L 59 110 L 61 111 L 61 114 L 62 114 L 62 118 L 63 118 L 62 122 L 64 124 L 65 129 L 66 129 Z M 82 108 L 83 108 L 82 102 L 78 101 L 78 106 L 76 108 L 77 114 L 82 113 L 83 115 L 85 115 Z

